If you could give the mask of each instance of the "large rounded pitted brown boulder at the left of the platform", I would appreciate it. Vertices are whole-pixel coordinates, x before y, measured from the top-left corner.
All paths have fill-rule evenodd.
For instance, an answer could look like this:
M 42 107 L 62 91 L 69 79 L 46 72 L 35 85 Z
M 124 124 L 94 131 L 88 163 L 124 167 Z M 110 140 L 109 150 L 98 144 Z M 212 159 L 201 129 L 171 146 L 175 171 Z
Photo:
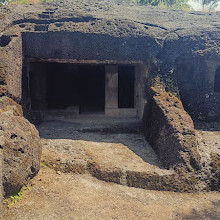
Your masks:
M 5 194 L 18 191 L 40 168 L 42 147 L 36 128 L 25 118 L 0 114 L 3 147 L 3 186 Z

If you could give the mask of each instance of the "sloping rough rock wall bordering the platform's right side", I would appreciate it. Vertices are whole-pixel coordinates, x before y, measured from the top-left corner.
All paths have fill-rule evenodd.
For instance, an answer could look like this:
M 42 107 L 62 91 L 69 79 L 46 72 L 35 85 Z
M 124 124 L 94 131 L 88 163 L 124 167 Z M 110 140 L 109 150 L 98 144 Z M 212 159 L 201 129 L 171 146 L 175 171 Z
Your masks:
M 194 171 L 200 168 L 200 155 L 191 117 L 181 101 L 166 92 L 161 83 L 150 88 L 145 111 L 145 135 L 166 168 Z

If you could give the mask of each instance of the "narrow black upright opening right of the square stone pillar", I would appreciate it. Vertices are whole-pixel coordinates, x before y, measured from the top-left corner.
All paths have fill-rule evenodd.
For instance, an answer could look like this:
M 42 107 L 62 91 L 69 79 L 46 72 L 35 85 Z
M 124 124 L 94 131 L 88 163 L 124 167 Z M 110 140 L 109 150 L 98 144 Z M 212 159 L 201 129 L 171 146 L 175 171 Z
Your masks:
M 134 66 L 118 67 L 118 107 L 134 108 Z

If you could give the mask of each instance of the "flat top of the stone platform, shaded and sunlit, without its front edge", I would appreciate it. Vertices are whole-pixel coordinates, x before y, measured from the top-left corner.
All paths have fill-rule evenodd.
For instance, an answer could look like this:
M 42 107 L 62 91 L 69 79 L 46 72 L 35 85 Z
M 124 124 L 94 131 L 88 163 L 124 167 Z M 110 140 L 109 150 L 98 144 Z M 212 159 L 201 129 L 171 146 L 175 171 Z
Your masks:
M 119 167 L 131 167 L 134 165 L 131 158 L 134 158 L 135 163 L 139 160 L 142 164 L 147 163 L 162 168 L 157 155 L 142 134 L 141 122 L 135 118 L 83 116 L 73 120 L 48 120 L 38 126 L 38 130 L 45 152 L 58 151 L 62 158 L 63 153 L 66 156 L 72 154 L 72 158 L 78 157 L 82 160 L 83 157 L 79 154 L 83 154 L 83 151 L 85 154 L 86 151 L 90 156 L 92 154 L 96 154 L 96 157 L 98 154 L 103 156 L 103 163 L 115 160 Z M 89 149 L 93 150 L 89 152 Z M 116 151 L 118 154 L 113 157 L 112 154 Z M 120 158 L 117 158 L 118 156 Z

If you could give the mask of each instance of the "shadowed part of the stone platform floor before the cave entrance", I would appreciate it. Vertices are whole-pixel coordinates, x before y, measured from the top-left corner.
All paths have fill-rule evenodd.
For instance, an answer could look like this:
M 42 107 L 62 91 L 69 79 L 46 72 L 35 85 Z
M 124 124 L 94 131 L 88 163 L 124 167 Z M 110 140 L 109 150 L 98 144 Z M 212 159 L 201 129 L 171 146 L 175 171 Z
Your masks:
M 60 118 L 45 121 L 38 126 L 38 130 L 42 139 L 50 139 L 51 142 L 57 139 L 79 140 L 87 141 L 87 144 L 100 143 L 104 148 L 123 145 L 143 161 L 162 168 L 157 155 L 144 138 L 141 121 L 136 118 L 105 118 L 101 115 Z

